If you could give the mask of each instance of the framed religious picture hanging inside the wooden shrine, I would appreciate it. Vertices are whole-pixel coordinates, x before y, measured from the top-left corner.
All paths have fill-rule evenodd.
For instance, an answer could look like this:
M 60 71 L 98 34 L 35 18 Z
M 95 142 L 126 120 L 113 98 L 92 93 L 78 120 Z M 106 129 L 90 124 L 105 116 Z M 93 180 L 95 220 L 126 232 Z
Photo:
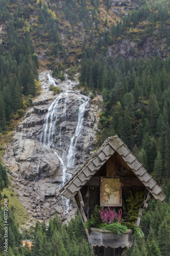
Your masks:
M 100 205 L 122 206 L 122 186 L 120 178 L 101 177 Z

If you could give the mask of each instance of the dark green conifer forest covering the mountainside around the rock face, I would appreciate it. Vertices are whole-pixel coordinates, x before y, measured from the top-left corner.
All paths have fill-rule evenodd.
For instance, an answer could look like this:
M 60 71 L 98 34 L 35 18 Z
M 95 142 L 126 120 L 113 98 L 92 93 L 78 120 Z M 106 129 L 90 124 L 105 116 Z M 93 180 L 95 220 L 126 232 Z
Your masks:
M 92 256 L 78 211 L 67 225 L 56 214 L 20 229 L 6 195 L 3 155 L 44 69 L 61 81 L 78 73 L 82 94 L 101 96 L 96 148 L 117 135 L 166 195 L 142 211 L 144 237 L 125 255 L 170 256 L 170 0 L 0 0 L 0 255 L 8 198 L 8 256 Z

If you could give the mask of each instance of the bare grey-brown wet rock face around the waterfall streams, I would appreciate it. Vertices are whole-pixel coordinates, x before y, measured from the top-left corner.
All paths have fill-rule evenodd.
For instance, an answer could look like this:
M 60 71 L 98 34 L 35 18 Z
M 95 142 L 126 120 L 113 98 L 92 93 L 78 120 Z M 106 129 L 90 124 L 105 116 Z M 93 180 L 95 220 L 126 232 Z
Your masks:
M 70 139 L 74 136 L 78 124 L 82 96 L 75 88 L 78 82 L 71 82 L 67 77 L 63 82 L 58 81 L 61 100 L 57 113 L 52 117 L 54 121 L 56 115 L 58 116 L 55 133 L 52 136 L 53 143 L 49 148 L 43 138 L 45 118 L 51 104 L 59 96 L 53 95 L 49 90 L 50 83 L 47 78 L 49 72 L 40 73 L 41 94 L 35 99 L 13 133 L 4 155 L 4 162 L 9 168 L 19 200 L 32 217 L 49 219 L 58 212 L 67 222 L 75 212 L 75 202 L 70 200 L 66 218 L 63 214 L 66 206 L 58 192 L 63 184 L 63 163 L 57 155 L 65 161 L 63 156 L 68 154 Z M 62 94 L 65 91 L 68 91 L 67 99 Z M 101 96 L 88 101 L 85 106 L 83 127 L 78 138 L 74 139 L 74 141 L 77 139 L 75 166 L 67 168 L 65 181 L 80 168 L 96 146 L 95 131 L 99 121 L 98 114 L 101 111 L 98 101 L 101 101 Z M 50 119 L 46 127 L 50 130 Z

